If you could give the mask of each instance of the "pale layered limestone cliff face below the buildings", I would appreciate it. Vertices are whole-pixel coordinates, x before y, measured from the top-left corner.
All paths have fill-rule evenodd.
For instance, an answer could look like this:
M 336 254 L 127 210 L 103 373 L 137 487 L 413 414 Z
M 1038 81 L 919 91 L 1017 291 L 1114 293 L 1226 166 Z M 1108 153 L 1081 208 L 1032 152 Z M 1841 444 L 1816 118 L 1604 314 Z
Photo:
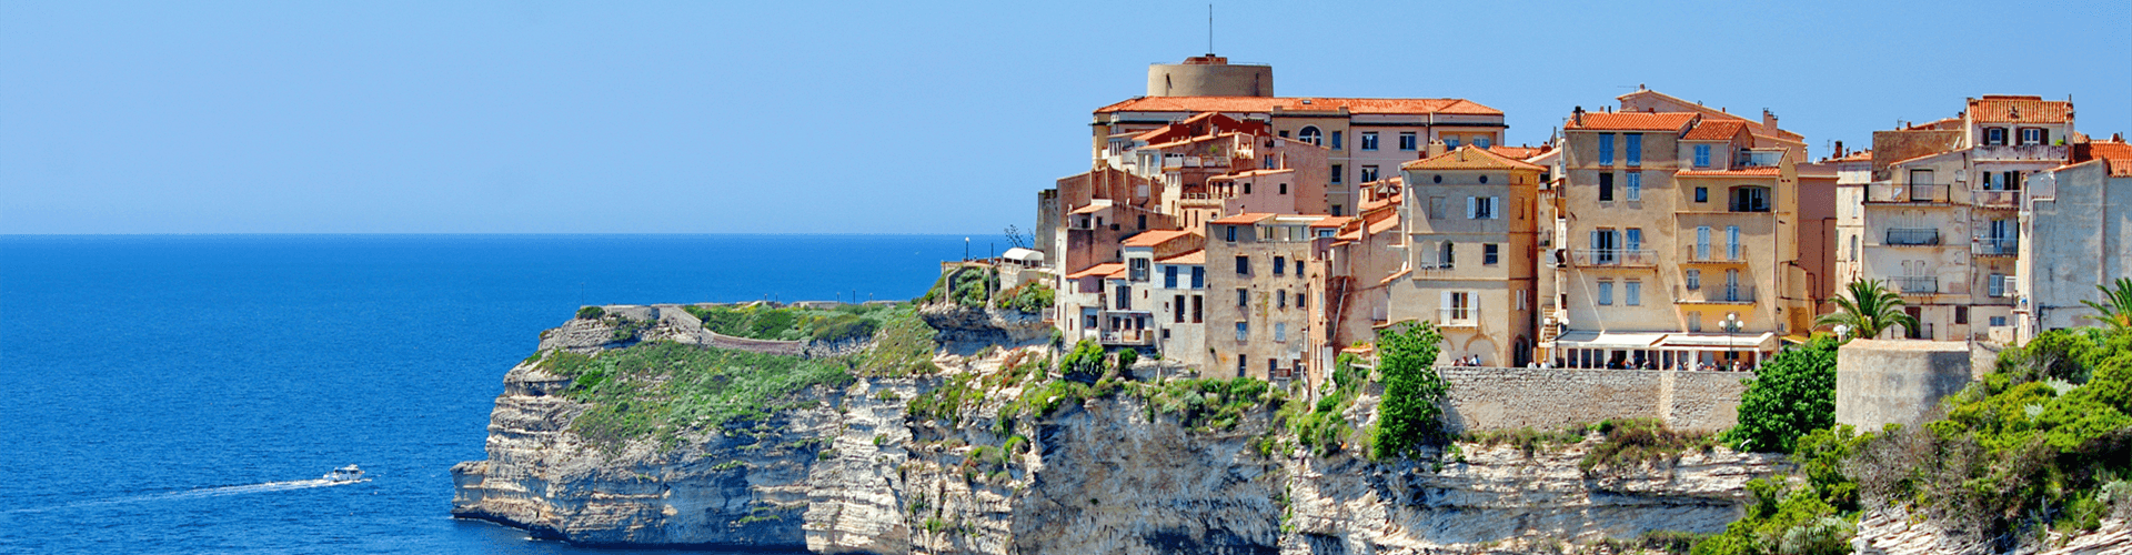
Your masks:
M 544 348 L 618 346 L 608 339 L 627 322 L 612 320 L 574 320 L 546 333 Z M 689 333 L 687 322 L 642 322 L 640 339 Z M 957 376 L 991 382 L 1006 356 L 944 354 L 942 376 L 817 388 L 804 408 L 763 423 L 612 453 L 569 431 L 586 406 L 554 395 L 567 378 L 520 365 L 497 397 L 488 459 L 452 467 L 452 512 L 580 544 L 1516 553 L 1652 529 L 1718 532 L 1740 514 L 1742 485 L 1776 465 L 1716 450 L 1586 474 L 1578 461 L 1593 440 L 1533 455 L 1475 444 L 1441 463 L 1262 453 L 1260 440 L 1279 433 L 1271 408 L 1213 429 L 1132 395 L 1002 418 L 1034 382 L 987 388 L 957 418 L 910 416 L 910 399 Z

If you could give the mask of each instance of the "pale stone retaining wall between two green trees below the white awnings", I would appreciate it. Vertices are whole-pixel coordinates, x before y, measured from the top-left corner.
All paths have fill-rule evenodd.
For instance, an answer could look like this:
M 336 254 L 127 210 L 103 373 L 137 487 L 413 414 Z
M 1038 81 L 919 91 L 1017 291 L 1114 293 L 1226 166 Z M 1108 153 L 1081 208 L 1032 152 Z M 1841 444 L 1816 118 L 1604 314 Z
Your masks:
M 1439 367 L 1452 431 L 1561 429 L 1608 418 L 1661 418 L 1716 431 L 1738 421 L 1744 371 Z

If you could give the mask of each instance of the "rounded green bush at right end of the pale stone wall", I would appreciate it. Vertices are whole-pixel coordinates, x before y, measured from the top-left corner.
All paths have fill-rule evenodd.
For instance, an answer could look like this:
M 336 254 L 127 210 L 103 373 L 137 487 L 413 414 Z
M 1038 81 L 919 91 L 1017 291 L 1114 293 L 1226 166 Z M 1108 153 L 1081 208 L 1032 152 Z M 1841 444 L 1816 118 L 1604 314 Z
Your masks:
M 1725 444 L 1791 453 L 1799 435 L 1836 425 L 1836 346 L 1821 335 L 1761 365 L 1740 393 L 1740 425 L 1725 431 Z

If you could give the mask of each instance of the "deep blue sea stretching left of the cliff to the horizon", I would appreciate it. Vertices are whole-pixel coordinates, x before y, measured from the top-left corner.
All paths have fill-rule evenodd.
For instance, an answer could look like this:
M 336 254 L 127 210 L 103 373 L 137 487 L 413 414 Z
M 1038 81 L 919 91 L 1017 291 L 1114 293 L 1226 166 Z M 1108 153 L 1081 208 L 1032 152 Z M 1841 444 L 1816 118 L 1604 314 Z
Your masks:
M 0 237 L 0 553 L 627 553 L 448 517 L 448 470 L 484 459 L 503 371 L 542 329 L 582 303 L 910 299 L 964 248 Z M 369 480 L 313 482 L 350 463 Z

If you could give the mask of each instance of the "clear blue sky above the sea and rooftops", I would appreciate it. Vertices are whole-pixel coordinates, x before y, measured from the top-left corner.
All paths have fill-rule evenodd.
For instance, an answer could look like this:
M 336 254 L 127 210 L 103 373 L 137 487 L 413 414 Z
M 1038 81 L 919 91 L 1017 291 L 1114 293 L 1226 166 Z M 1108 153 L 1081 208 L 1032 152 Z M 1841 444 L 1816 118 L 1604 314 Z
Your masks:
M 1281 96 L 2132 130 L 2128 2 L 1217 2 Z M 1207 2 L 0 2 L 0 233 L 989 233 Z

